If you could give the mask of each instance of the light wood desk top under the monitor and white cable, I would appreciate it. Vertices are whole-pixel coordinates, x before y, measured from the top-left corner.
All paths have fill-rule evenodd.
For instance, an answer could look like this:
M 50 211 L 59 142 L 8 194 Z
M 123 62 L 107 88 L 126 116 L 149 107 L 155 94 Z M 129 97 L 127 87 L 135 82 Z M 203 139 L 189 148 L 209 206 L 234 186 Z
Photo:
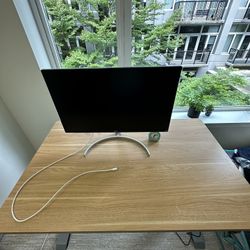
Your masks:
M 250 230 L 250 185 L 200 120 L 172 120 L 158 143 L 147 133 L 129 133 L 145 152 L 127 141 L 108 141 L 84 158 L 58 163 L 32 180 L 16 203 L 27 217 L 71 177 L 117 166 L 116 172 L 83 176 L 28 222 L 11 218 L 17 188 L 45 165 L 103 134 L 65 134 L 55 124 L 0 209 L 0 232 L 103 232 Z

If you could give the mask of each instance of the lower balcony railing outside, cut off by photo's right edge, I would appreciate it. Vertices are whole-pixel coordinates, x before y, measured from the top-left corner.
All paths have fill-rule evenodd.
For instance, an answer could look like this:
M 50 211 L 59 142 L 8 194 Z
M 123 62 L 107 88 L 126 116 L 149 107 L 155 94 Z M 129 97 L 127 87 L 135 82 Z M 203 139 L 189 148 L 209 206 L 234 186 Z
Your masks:
M 231 48 L 227 61 L 232 64 L 249 64 L 249 58 L 250 50 Z

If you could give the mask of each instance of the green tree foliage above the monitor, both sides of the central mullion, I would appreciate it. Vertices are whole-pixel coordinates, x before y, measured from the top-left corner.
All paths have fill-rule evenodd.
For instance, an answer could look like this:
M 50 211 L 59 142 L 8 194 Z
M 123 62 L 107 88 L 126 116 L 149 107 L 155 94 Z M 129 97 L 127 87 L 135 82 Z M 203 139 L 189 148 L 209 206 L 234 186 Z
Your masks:
M 43 1 L 65 67 L 117 64 L 115 0 L 72 0 L 73 7 L 63 0 Z M 164 4 L 157 1 L 144 6 L 140 0 L 133 0 L 133 65 L 160 64 L 162 57 L 166 61 L 168 52 L 181 45 L 182 38 L 175 34 L 180 13 L 160 23 L 163 9 Z M 81 48 L 69 43 L 76 35 L 84 45 Z

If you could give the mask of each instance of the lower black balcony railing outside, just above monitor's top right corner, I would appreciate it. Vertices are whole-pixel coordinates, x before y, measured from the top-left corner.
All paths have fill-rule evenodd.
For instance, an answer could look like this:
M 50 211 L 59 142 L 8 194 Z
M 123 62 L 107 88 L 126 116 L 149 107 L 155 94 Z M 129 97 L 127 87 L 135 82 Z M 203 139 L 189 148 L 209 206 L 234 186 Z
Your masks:
M 177 50 L 167 52 L 169 64 L 195 65 L 207 64 L 211 51 L 205 50 Z

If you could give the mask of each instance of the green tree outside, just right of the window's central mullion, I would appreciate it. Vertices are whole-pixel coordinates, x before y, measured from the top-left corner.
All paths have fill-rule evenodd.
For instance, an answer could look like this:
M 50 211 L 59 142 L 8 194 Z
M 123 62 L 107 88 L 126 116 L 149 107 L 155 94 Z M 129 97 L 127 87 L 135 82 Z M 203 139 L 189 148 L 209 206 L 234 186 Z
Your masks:
M 165 22 L 157 24 L 157 19 L 163 14 L 165 4 L 150 1 L 148 5 L 134 0 L 134 19 L 132 21 L 133 65 L 160 64 L 163 56 L 166 61 L 175 48 L 183 43 L 182 36 L 176 35 L 175 30 L 181 17 L 180 11 L 175 11 Z

